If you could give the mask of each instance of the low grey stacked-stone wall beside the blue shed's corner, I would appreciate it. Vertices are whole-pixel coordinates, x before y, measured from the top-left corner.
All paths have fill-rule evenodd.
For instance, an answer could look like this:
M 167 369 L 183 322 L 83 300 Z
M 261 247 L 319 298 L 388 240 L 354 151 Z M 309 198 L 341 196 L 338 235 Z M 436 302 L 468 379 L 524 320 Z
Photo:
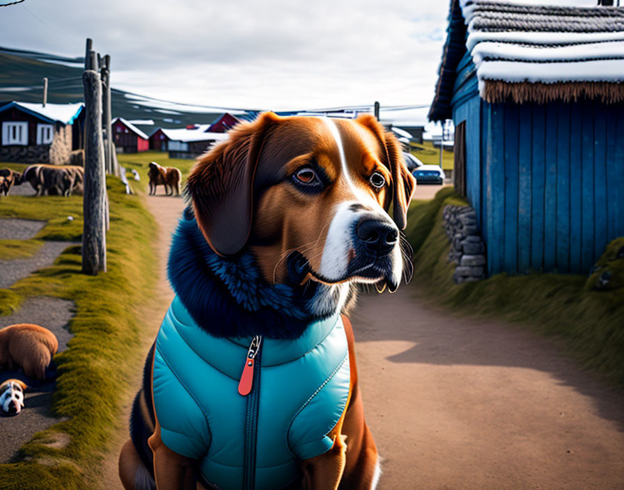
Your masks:
M 455 262 L 455 283 L 485 278 L 485 244 L 479 234 L 476 213 L 470 206 L 446 206 L 444 230 L 451 242 L 448 261 Z

